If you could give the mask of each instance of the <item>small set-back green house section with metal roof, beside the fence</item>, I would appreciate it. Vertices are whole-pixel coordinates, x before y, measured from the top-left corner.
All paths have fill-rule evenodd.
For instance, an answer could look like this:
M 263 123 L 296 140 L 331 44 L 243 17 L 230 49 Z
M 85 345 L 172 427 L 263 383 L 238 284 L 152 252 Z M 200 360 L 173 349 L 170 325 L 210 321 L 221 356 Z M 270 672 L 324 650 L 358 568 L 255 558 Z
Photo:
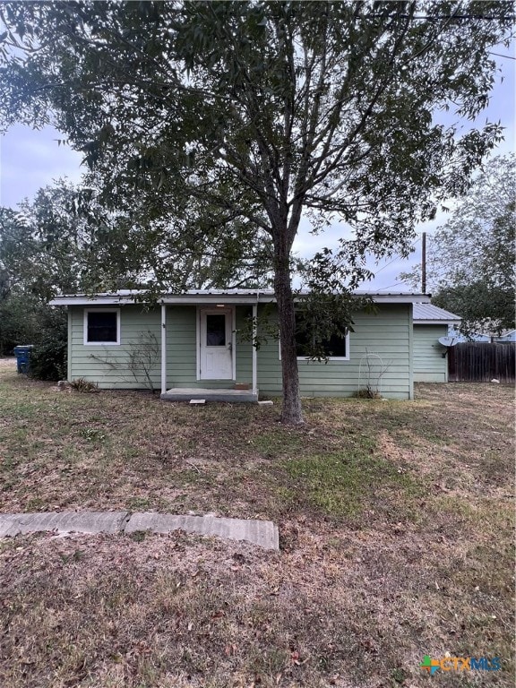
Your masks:
M 436 305 L 414 304 L 414 382 L 447 383 L 447 349 L 439 341 L 448 335 L 449 325 L 460 323 L 459 315 Z

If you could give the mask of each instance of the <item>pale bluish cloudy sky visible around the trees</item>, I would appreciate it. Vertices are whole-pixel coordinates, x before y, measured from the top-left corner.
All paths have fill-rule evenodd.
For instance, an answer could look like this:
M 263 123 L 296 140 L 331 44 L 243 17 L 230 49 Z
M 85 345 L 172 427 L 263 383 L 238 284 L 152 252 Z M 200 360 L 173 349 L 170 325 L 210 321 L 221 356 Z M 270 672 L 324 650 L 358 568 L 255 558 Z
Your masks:
M 499 49 L 501 56 L 496 56 L 500 73 L 496 76 L 495 86 L 491 92 L 488 107 L 469 124 L 484 125 L 486 119 L 500 121 L 505 127 L 504 141 L 500 143 L 493 155 L 514 152 L 515 119 L 516 119 L 516 51 Z M 503 56 L 506 57 L 503 57 Z M 38 131 L 22 125 L 14 125 L 4 136 L 0 136 L 0 205 L 14 208 L 24 198 L 31 199 L 42 186 L 52 184 L 60 177 L 67 177 L 72 182 L 80 182 L 82 176 L 82 154 L 68 146 L 58 145 L 59 139 L 65 136 L 52 127 Z M 374 271 L 375 278 L 366 282 L 362 288 L 370 290 L 409 291 L 410 288 L 400 281 L 402 271 L 410 271 L 411 266 L 421 261 L 421 234 L 426 231 L 428 243 L 435 228 L 447 219 L 446 214 L 439 213 L 437 218 L 417 228 L 415 251 L 408 260 L 394 256 L 375 264 L 370 261 L 368 267 Z M 302 220 L 294 250 L 303 257 L 310 257 L 324 246 L 336 245 L 342 235 L 342 228 L 333 225 L 322 234 L 310 234 L 310 225 Z

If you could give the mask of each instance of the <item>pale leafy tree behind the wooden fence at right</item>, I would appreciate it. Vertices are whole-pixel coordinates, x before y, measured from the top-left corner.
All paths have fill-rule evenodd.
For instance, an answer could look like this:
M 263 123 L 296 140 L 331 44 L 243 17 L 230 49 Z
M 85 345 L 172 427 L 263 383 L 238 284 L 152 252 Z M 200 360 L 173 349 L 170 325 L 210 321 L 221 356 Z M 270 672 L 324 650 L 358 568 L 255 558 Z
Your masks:
M 442 227 L 428 237 L 432 301 L 462 318 L 470 335 L 514 327 L 516 156 L 490 159 Z M 402 275 L 417 287 L 420 266 Z

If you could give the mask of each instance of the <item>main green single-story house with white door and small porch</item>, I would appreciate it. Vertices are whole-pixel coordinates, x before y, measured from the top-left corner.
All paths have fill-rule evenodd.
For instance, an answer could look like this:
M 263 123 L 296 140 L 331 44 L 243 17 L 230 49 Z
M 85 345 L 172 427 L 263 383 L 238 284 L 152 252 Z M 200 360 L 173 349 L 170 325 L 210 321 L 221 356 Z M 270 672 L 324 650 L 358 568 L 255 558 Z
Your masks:
M 413 398 L 413 306 L 429 298 L 369 296 L 375 313 L 357 310 L 354 331 L 332 340 L 327 361 L 300 354 L 303 396 L 346 397 L 368 389 L 385 398 Z M 157 305 L 142 303 L 138 292 L 120 291 L 56 297 L 52 304 L 68 309 L 68 381 L 152 388 L 167 400 L 256 401 L 281 394 L 278 339 L 258 332 L 265 336 L 255 348 L 246 327 L 253 319 L 260 323 L 264 313 L 274 323 L 271 290 L 189 291 L 160 297 Z

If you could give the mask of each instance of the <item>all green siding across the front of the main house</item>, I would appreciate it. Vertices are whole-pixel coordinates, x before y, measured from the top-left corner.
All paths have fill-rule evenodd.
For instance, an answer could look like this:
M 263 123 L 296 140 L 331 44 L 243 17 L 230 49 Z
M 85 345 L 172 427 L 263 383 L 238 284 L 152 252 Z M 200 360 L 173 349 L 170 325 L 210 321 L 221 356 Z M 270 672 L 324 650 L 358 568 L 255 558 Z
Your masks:
M 262 306 L 261 306 L 262 308 Z M 349 336 L 349 360 L 298 361 L 303 396 L 351 396 L 365 387 L 368 378 L 366 355 L 377 354 L 385 368 L 379 389 L 383 396 L 394 399 L 412 398 L 411 323 L 412 305 L 380 305 L 376 314 L 357 313 L 355 331 Z M 250 305 L 236 305 L 236 380 L 197 380 L 197 323 L 195 305 L 171 305 L 167 308 L 167 388 L 201 387 L 231 388 L 235 383 L 252 383 L 252 347 L 239 336 Z M 145 310 L 138 305 L 120 308 L 121 345 L 84 346 L 84 308 L 70 309 L 69 379 L 85 377 L 100 387 L 137 388 L 145 384 L 134 380 L 129 370 L 113 370 L 108 362 L 127 361 L 131 341 L 142 331 L 151 331 L 160 346 L 160 308 Z M 274 316 L 272 316 L 274 317 Z M 258 387 L 262 394 L 281 393 L 281 362 L 279 342 L 270 338 L 262 342 L 257 354 Z M 102 360 L 99 360 L 102 359 Z M 376 358 L 371 359 L 372 378 L 378 370 Z M 107 363 L 105 362 L 107 361 Z M 152 366 L 152 382 L 160 388 L 160 353 Z

